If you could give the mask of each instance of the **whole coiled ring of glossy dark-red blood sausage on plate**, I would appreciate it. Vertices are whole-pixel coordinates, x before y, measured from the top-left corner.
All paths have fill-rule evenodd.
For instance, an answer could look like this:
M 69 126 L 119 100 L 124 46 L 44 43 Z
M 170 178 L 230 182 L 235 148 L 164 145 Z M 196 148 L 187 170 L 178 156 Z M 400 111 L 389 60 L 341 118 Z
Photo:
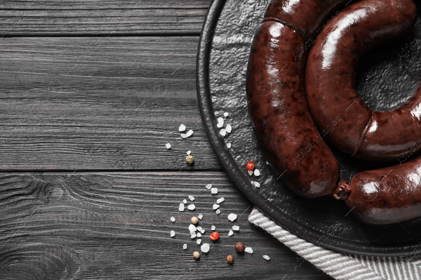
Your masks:
M 396 160 L 416 145 L 421 152 L 420 88 L 394 110 L 372 113 L 354 86 L 358 60 L 407 34 L 416 5 L 363 0 L 344 8 L 347 3 L 269 4 L 253 40 L 246 83 L 256 138 L 279 179 L 299 196 L 333 193 L 371 224 L 420 217 L 421 157 L 358 173 L 349 183 L 340 179 L 338 161 L 322 139 L 370 161 Z

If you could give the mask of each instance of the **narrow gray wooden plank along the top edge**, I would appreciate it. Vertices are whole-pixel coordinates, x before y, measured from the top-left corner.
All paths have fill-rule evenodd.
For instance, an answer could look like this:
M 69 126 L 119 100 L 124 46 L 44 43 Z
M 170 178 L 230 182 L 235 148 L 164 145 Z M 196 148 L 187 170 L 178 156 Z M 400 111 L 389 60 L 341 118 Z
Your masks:
M 210 0 L 0 1 L 1 36 L 199 34 Z

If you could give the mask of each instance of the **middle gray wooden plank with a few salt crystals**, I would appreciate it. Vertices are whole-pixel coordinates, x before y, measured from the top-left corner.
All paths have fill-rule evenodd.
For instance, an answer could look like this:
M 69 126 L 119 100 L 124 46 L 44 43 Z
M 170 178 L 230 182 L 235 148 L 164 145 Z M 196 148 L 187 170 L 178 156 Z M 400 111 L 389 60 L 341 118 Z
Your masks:
M 198 37 L 2 40 L 0 170 L 221 170 L 197 105 Z

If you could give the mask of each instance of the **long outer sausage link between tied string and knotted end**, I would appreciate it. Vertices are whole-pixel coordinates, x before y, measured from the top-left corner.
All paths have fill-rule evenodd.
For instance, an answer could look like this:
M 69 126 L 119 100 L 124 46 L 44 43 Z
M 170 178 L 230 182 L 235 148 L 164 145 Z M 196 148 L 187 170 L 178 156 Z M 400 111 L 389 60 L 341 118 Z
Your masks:
M 307 107 L 302 43 L 297 31 L 264 21 L 253 41 L 246 89 L 253 128 L 266 160 L 291 191 L 317 197 L 333 191 L 339 165 Z

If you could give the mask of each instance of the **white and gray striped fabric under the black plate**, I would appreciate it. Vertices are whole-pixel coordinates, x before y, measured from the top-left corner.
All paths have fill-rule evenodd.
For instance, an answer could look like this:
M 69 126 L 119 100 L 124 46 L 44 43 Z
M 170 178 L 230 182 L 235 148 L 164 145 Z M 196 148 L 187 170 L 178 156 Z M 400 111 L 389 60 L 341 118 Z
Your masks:
M 370 257 L 325 249 L 290 233 L 256 207 L 248 220 L 338 280 L 419 280 L 421 256 Z

